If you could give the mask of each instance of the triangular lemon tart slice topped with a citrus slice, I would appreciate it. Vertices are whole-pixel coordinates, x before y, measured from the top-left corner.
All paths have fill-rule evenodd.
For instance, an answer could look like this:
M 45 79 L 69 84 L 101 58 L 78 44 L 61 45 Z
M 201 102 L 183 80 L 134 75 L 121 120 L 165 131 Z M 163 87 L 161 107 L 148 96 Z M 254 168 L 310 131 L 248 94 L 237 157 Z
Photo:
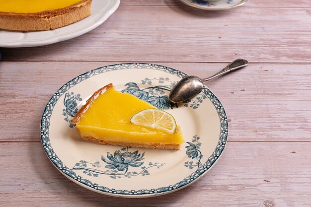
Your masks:
M 73 119 L 82 138 L 101 144 L 179 149 L 184 142 L 175 119 L 112 83 L 97 90 Z

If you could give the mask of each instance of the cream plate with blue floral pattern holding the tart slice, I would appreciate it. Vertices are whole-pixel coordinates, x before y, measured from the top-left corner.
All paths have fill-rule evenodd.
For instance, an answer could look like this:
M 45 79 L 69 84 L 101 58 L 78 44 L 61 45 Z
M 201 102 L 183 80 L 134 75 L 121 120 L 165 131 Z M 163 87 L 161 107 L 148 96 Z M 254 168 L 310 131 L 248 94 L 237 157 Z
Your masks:
M 41 140 L 51 162 L 89 190 L 118 197 L 151 197 L 182 189 L 208 172 L 228 136 L 223 105 L 204 87 L 191 100 L 173 104 L 172 87 L 187 74 L 153 64 L 118 64 L 81 74 L 52 96 L 41 120 Z M 166 110 L 180 125 L 180 150 L 99 145 L 80 138 L 73 116 L 98 88 L 113 83 Z

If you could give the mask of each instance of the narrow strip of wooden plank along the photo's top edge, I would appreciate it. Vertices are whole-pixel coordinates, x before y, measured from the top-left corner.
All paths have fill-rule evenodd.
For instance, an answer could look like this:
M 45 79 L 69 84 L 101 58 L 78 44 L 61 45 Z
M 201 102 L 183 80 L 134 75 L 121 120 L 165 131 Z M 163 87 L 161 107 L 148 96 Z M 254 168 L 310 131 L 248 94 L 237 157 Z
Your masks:
M 187 6 L 179 0 L 122 0 L 120 5 Z M 248 0 L 243 7 L 311 7 L 309 0 Z

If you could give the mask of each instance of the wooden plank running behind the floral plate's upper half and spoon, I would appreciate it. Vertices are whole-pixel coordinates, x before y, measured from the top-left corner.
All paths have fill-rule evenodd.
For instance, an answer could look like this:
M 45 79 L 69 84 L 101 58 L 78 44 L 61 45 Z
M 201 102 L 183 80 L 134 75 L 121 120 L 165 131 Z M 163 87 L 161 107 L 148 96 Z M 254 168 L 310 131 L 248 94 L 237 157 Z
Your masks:
M 2 62 L 0 141 L 39 141 L 41 115 L 53 93 L 80 73 L 108 64 Z M 224 66 L 158 64 L 202 77 Z M 311 141 L 310 69 L 305 64 L 250 64 L 209 82 L 230 119 L 230 140 Z

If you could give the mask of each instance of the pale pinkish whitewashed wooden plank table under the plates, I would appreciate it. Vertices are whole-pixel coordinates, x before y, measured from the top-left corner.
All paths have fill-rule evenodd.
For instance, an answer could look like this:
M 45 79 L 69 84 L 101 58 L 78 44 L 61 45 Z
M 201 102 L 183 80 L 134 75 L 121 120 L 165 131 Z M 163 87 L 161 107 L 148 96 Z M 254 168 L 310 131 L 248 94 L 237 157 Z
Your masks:
M 122 0 L 101 26 L 36 48 L 0 48 L 0 206 L 311 207 L 310 0 L 249 0 L 208 12 L 178 0 Z M 40 119 L 78 74 L 147 62 L 206 77 L 229 119 L 229 142 L 195 184 L 161 197 L 121 199 L 71 182 L 49 162 Z

